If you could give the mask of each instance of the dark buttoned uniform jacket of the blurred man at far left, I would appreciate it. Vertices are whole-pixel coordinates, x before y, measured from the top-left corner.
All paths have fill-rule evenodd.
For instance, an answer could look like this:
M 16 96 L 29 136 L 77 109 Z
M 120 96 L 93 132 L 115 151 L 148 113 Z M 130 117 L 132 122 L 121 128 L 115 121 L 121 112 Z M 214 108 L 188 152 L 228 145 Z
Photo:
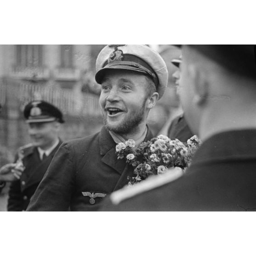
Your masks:
M 39 158 L 37 147 L 30 146 L 23 149 L 23 165 L 25 170 L 20 180 L 13 181 L 9 190 L 8 211 L 25 211 L 29 200 L 45 175 L 54 154 L 61 145 L 61 141 L 43 161 Z

